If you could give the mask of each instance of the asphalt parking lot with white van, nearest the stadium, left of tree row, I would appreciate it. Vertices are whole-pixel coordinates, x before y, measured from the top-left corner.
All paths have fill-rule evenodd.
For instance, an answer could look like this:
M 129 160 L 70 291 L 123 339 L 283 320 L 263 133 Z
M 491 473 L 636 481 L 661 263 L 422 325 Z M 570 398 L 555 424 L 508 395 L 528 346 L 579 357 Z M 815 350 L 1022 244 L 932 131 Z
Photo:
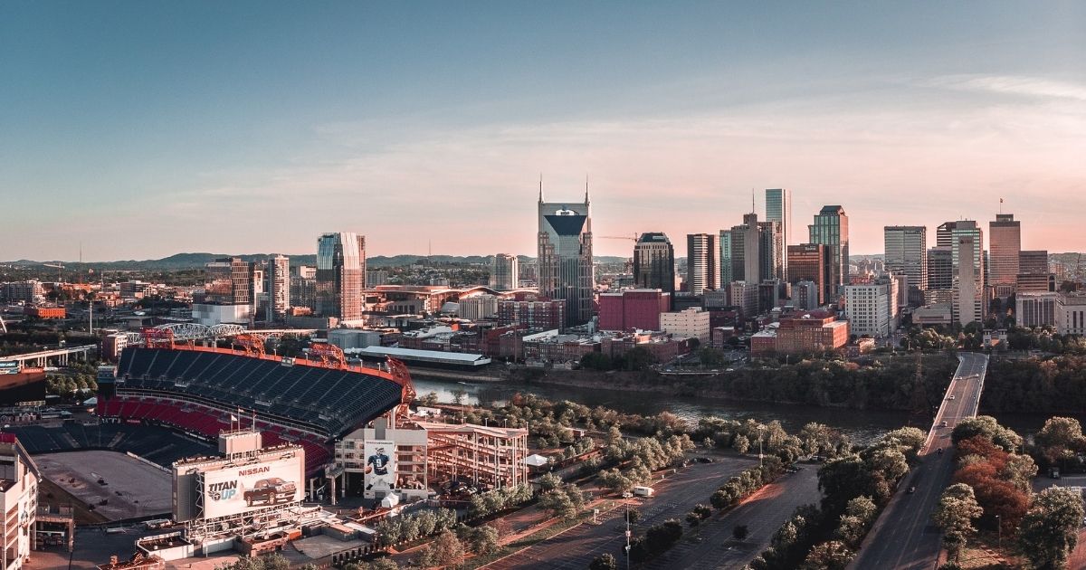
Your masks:
M 641 511 L 641 520 L 634 524 L 634 535 L 644 533 L 645 529 L 667 519 L 685 519 L 686 512 L 698 503 L 708 504 L 709 496 L 728 478 L 738 474 L 757 464 L 757 459 L 728 457 L 716 463 L 694 464 L 681 469 L 679 473 L 653 485 L 656 493 L 653 497 L 640 502 L 631 501 L 631 505 Z M 576 569 L 584 570 L 593 558 L 610 553 L 620 561 L 622 548 L 626 545 L 626 509 L 618 507 L 601 515 L 597 524 L 584 523 L 561 534 L 553 536 L 519 553 L 496 560 L 484 568 L 503 570 L 513 568 L 532 569 Z M 780 521 L 778 525 L 780 525 Z M 685 521 L 684 521 L 685 524 Z

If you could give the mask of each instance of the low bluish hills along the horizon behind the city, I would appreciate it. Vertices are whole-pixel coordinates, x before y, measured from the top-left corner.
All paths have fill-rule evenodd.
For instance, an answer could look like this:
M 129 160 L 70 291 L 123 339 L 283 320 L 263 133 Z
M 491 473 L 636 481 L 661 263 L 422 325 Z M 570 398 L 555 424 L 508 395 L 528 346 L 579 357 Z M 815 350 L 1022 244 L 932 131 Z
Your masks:
M 17 262 L 0 262 L 5 265 L 15 265 L 23 267 L 40 267 L 46 264 L 63 265 L 67 269 L 78 270 L 83 268 L 92 267 L 96 270 L 180 270 L 180 269 L 199 269 L 204 266 L 207 262 L 218 259 L 220 257 L 240 257 L 247 262 L 256 262 L 261 259 L 266 259 L 270 254 L 267 253 L 249 253 L 249 254 L 226 254 L 226 253 L 175 253 L 168 257 L 163 257 L 161 259 L 127 259 L 127 261 L 116 261 L 116 262 L 93 262 L 93 263 L 78 263 L 78 262 L 60 262 L 60 261 L 48 261 L 48 262 L 36 262 L 31 259 L 20 259 Z M 434 265 L 483 265 L 489 264 L 493 256 L 483 255 L 431 255 L 430 262 Z M 534 257 L 529 257 L 527 255 L 518 255 L 520 263 L 533 263 Z M 376 255 L 374 257 L 368 257 L 366 259 L 367 267 L 400 267 L 404 265 L 411 265 L 414 263 L 427 263 L 426 255 Z M 626 258 L 616 256 L 597 256 L 595 258 L 596 263 L 615 264 L 623 263 Z M 307 255 L 291 255 L 291 265 L 316 265 L 317 256 L 316 254 Z

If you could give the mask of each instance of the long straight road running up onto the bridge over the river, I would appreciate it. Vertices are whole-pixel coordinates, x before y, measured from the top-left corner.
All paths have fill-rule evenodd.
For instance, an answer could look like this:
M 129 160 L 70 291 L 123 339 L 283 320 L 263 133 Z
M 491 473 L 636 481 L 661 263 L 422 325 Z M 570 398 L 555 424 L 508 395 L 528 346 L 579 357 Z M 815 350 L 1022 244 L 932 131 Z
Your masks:
M 960 353 L 958 358 L 961 362 L 943 397 L 927 442 L 920 451 L 920 464 L 906 476 L 899 492 L 891 498 L 848 568 L 935 568 L 942 535 L 931 516 L 954 473 L 950 432 L 960 420 L 976 416 L 988 369 L 988 357 L 984 354 Z M 938 449 L 944 449 L 943 455 Z M 909 486 L 915 486 L 915 493 L 904 491 Z

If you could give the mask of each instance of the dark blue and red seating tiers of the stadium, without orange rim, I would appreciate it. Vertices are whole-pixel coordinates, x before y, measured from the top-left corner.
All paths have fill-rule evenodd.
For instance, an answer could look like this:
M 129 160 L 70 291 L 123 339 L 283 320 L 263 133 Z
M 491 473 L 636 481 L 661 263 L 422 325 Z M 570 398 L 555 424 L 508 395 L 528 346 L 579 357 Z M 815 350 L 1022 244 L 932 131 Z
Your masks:
M 249 425 L 248 415 L 256 410 L 265 444 L 302 445 L 308 473 L 331 460 L 329 442 L 386 413 L 400 403 L 401 395 L 395 382 L 358 370 L 282 366 L 240 353 L 184 349 L 125 349 L 117 378 L 116 394 L 99 397 L 99 416 L 168 426 L 214 441 L 219 431 L 231 427 L 236 410 L 245 409 L 242 425 Z M 179 442 L 191 442 L 178 435 L 176 442 L 143 444 L 130 441 L 125 430 L 106 426 L 131 427 L 71 427 L 60 434 L 28 430 L 26 436 L 42 451 L 125 447 L 154 461 L 172 461 L 186 452 Z

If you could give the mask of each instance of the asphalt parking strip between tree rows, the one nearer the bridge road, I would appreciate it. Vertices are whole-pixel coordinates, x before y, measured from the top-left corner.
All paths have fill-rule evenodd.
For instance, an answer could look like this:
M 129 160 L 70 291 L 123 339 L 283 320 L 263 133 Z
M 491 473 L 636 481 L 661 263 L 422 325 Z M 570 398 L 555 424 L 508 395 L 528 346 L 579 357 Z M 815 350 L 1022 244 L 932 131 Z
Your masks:
M 809 503 L 818 505 L 821 498 L 817 466 L 808 465 L 798 473 L 785 473 L 719 520 L 704 522 L 699 540 L 680 541 L 645 568 L 743 568 L 769 547 L 773 533 L 792 517 L 796 507 Z M 746 524 L 750 533 L 743 542 L 732 539 L 736 524 Z

